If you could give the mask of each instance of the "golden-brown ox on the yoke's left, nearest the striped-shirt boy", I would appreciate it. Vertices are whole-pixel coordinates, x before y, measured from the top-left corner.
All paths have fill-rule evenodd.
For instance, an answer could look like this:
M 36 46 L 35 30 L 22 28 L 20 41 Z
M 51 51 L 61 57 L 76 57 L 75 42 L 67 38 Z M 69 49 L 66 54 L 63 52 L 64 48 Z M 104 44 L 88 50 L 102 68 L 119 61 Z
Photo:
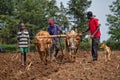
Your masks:
M 40 55 L 41 61 L 44 62 L 44 64 L 47 64 L 48 58 L 49 58 L 49 50 L 52 45 L 52 38 L 44 38 L 40 36 L 49 36 L 50 34 L 47 31 L 40 31 L 36 34 L 36 37 L 34 39 L 34 45 Z

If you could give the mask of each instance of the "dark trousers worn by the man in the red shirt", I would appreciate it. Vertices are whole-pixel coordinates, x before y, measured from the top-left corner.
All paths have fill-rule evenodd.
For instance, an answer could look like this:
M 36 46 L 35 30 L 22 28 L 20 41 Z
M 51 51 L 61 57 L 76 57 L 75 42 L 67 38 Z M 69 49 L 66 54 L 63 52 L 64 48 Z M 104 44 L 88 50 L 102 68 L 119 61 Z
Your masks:
M 98 59 L 98 43 L 99 43 L 99 40 L 100 40 L 100 37 L 92 39 L 92 57 L 93 57 L 93 60 Z

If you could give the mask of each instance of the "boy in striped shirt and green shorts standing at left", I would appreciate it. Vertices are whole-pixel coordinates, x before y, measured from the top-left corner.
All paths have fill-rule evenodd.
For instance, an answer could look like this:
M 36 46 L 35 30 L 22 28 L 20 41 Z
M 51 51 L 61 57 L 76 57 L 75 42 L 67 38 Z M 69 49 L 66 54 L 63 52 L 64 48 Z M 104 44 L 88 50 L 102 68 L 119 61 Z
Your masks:
M 25 29 L 24 23 L 20 24 L 20 30 L 17 33 L 18 47 L 21 52 L 22 65 L 26 64 L 26 53 L 30 47 L 29 32 Z

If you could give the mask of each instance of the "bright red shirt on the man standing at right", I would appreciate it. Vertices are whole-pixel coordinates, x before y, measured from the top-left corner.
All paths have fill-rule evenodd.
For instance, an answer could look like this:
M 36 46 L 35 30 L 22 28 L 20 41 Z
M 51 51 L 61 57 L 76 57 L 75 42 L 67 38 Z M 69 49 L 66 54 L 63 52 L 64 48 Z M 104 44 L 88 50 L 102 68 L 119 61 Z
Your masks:
M 97 27 L 99 26 L 98 19 L 96 19 L 96 18 L 90 19 L 88 21 L 88 25 L 89 25 L 90 33 L 91 33 L 91 35 L 93 35 L 94 32 L 96 31 Z M 96 32 L 96 34 L 94 35 L 94 38 L 100 37 L 100 35 L 101 35 L 101 32 L 100 32 L 100 29 L 99 29 Z

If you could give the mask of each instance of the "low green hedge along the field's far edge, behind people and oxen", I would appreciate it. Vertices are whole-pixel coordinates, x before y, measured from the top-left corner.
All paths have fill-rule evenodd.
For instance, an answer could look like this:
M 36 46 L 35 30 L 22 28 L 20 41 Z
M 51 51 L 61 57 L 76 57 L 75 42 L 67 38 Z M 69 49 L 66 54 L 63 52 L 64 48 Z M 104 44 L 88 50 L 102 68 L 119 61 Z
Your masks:
M 102 43 L 99 44 L 99 46 Z M 111 50 L 120 50 L 120 42 L 107 41 L 106 44 L 111 48 Z M 65 49 L 65 43 L 61 43 L 63 49 Z M 16 44 L 3 44 L 1 45 L 4 53 L 14 53 L 17 51 Z M 82 41 L 79 45 L 80 50 L 91 50 L 91 44 L 88 41 Z M 100 49 L 99 49 L 100 50 Z M 30 52 L 36 51 L 34 44 L 30 46 Z

